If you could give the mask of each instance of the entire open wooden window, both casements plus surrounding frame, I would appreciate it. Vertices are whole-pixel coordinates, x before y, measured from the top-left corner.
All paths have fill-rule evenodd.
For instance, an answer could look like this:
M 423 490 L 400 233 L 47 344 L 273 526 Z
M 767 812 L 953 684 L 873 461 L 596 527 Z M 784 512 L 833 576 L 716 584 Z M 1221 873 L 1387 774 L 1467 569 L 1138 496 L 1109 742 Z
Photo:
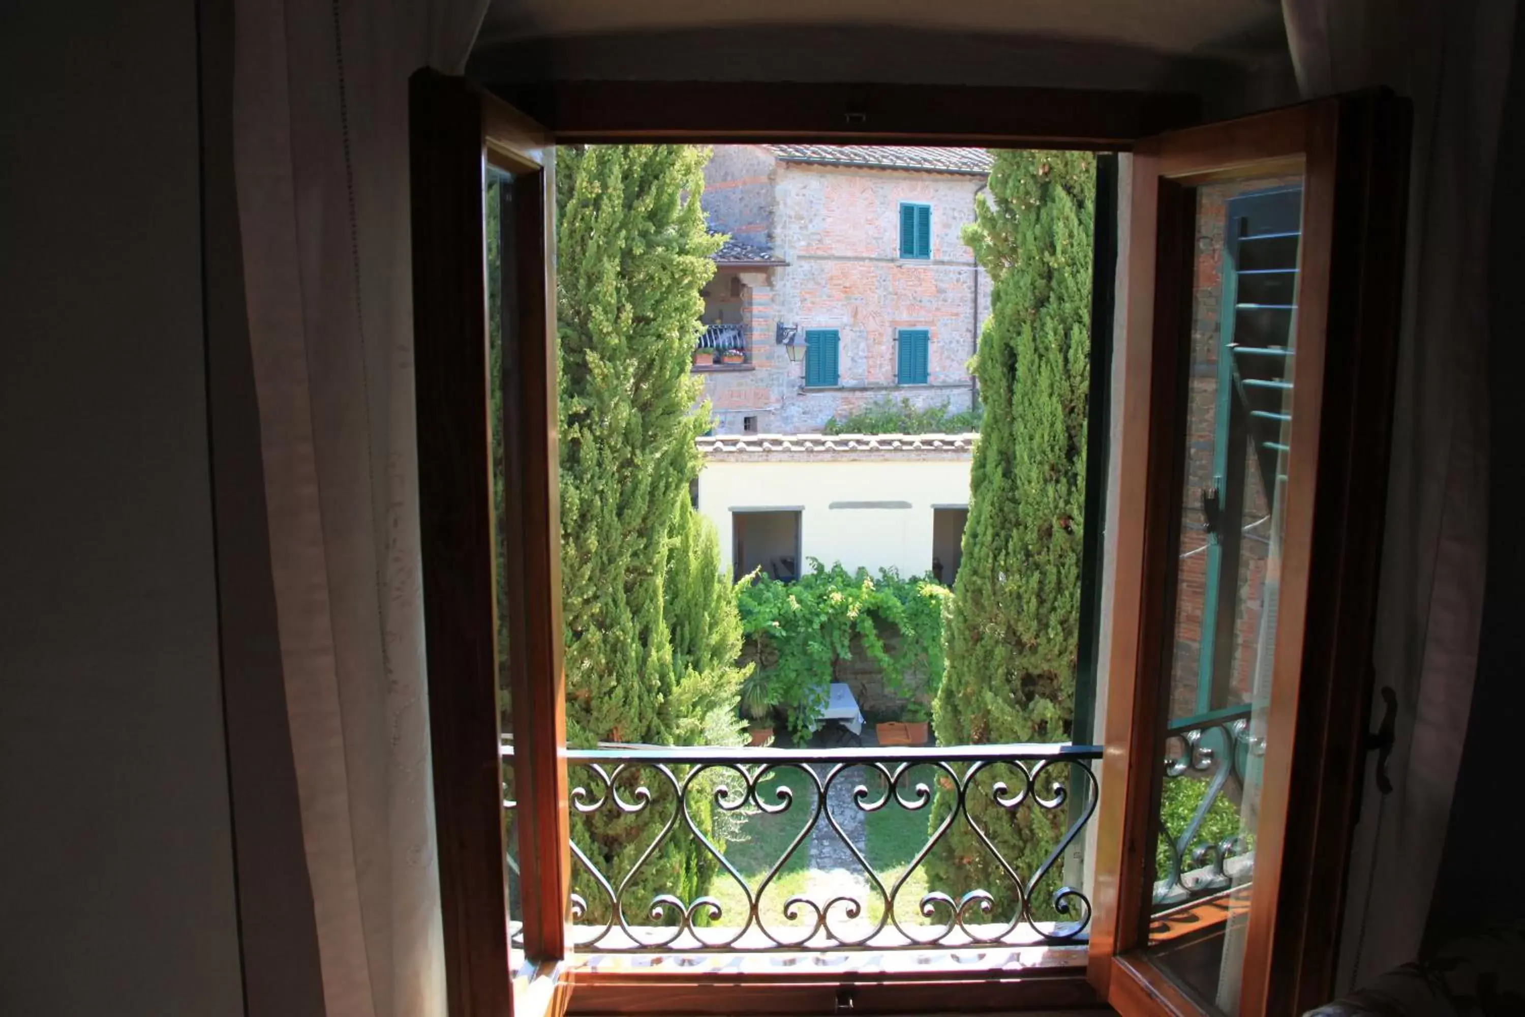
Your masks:
M 1369 694 L 1403 238 L 1397 102 L 1325 101 L 1150 136 L 1180 124 L 1182 107 L 1106 93 L 930 102 L 886 87 L 875 105 L 830 87 L 779 87 L 772 102 L 717 102 L 709 87 L 692 101 L 679 85 L 587 88 L 544 107 L 547 131 L 458 79 L 419 72 L 412 82 L 422 584 L 450 1012 L 560 1012 L 570 991 L 558 976 L 572 939 L 554 143 L 791 133 L 1133 151 L 1089 985 L 1078 970 L 932 976 L 904 964 L 859 971 L 843 997 L 849 974 L 836 968 L 752 983 L 653 965 L 605 983 L 602 1009 L 973 1012 L 1100 1000 L 1124 1014 L 1258 1017 L 1319 1002 Z M 744 88 L 756 99 L 758 87 Z M 834 104 L 859 127 L 827 119 Z M 1193 596 L 1196 650 L 1183 659 Z M 1179 836 L 1162 843 L 1161 800 L 1182 775 L 1199 781 L 1203 810 L 1229 802 L 1223 837 L 1199 842 L 1167 823 Z M 1200 833 L 1196 807 L 1186 811 Z

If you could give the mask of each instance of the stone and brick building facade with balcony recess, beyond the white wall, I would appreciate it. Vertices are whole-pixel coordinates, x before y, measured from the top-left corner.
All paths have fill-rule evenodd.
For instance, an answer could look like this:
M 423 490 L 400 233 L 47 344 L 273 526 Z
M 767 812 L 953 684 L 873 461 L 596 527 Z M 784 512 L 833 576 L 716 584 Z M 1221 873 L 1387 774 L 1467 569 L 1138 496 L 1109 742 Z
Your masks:
M 990 314 L 990 278 L 961 232 L 988 171 L 984 149 L 717 146 L 703 206 L 730 242 L 705 291 L 702 342 L 737 346 L 744 363 L 695 367 L 715 433 L 814 433 L 884 396 L 970 409 L 967 364 Z M 910 253 L 907 204 L 929 209 L 930 227 Z M 807 364 L 779 338 L 824 331 L 837 337 L 834 384 L 807 386 Z M 926 378 L 909 384 L 898 346 L 907 331 L 906 342 L 926 334 Z

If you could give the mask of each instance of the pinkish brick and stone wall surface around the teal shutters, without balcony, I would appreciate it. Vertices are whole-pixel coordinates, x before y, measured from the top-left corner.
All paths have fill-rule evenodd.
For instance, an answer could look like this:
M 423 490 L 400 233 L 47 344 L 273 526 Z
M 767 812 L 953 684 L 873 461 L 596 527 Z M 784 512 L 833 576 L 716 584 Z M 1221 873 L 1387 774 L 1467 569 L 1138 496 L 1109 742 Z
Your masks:
M 970 407 L 967 363 L 990 314 L 990 278 L 959 233 L 982 177 L 781 163 L 734 145 L 715 149 L 705 175 L 711 226 L 788 262 L 743 297 L 753 308 L 755 371 L 705 377 L 717 433 L 740 433 L 746 416 L 758 416 L 759 432 L 819 432 L 884 396 Z M 932 206 L 930 259 L 900 258 L 901 201 Z M 804 390 L 804 366 L 775 343 L 778 322 L 839 331 L 839 387 Z M 897 384 L 903 328 L 930 331 L 926 386 Z

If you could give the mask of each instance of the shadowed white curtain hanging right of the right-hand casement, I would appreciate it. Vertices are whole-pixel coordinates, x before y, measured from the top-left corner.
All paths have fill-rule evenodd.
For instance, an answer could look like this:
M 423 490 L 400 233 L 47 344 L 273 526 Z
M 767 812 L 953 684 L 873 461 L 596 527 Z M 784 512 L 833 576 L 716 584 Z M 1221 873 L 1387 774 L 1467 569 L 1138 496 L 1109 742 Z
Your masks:
M 1377 688 L 1398 698 L 1394 790 L 1377 793 L 1369 759 L 1344 991 L 1418 954 L 1472 704 L 1488 528 L 1488 204 L 1514 0 L 1283 0 L 1283 12 L 1304 96 L 1386 84 L 1414 101 L 1376 642 Z

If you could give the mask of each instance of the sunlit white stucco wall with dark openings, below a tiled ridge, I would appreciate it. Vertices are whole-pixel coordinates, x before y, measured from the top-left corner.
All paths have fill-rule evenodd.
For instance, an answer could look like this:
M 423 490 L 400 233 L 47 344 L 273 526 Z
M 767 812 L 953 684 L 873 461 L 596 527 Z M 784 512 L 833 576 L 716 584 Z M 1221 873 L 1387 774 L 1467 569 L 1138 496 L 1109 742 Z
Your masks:
M 921 575 L 932 569 L 932 509 L 955 505 L 968 505 L 967 456 L 711 460 L 698 474 L 698 511 L 720 531 L 727 569 L 737 509 L 798 509 L 802 569 L 819 558 Z

